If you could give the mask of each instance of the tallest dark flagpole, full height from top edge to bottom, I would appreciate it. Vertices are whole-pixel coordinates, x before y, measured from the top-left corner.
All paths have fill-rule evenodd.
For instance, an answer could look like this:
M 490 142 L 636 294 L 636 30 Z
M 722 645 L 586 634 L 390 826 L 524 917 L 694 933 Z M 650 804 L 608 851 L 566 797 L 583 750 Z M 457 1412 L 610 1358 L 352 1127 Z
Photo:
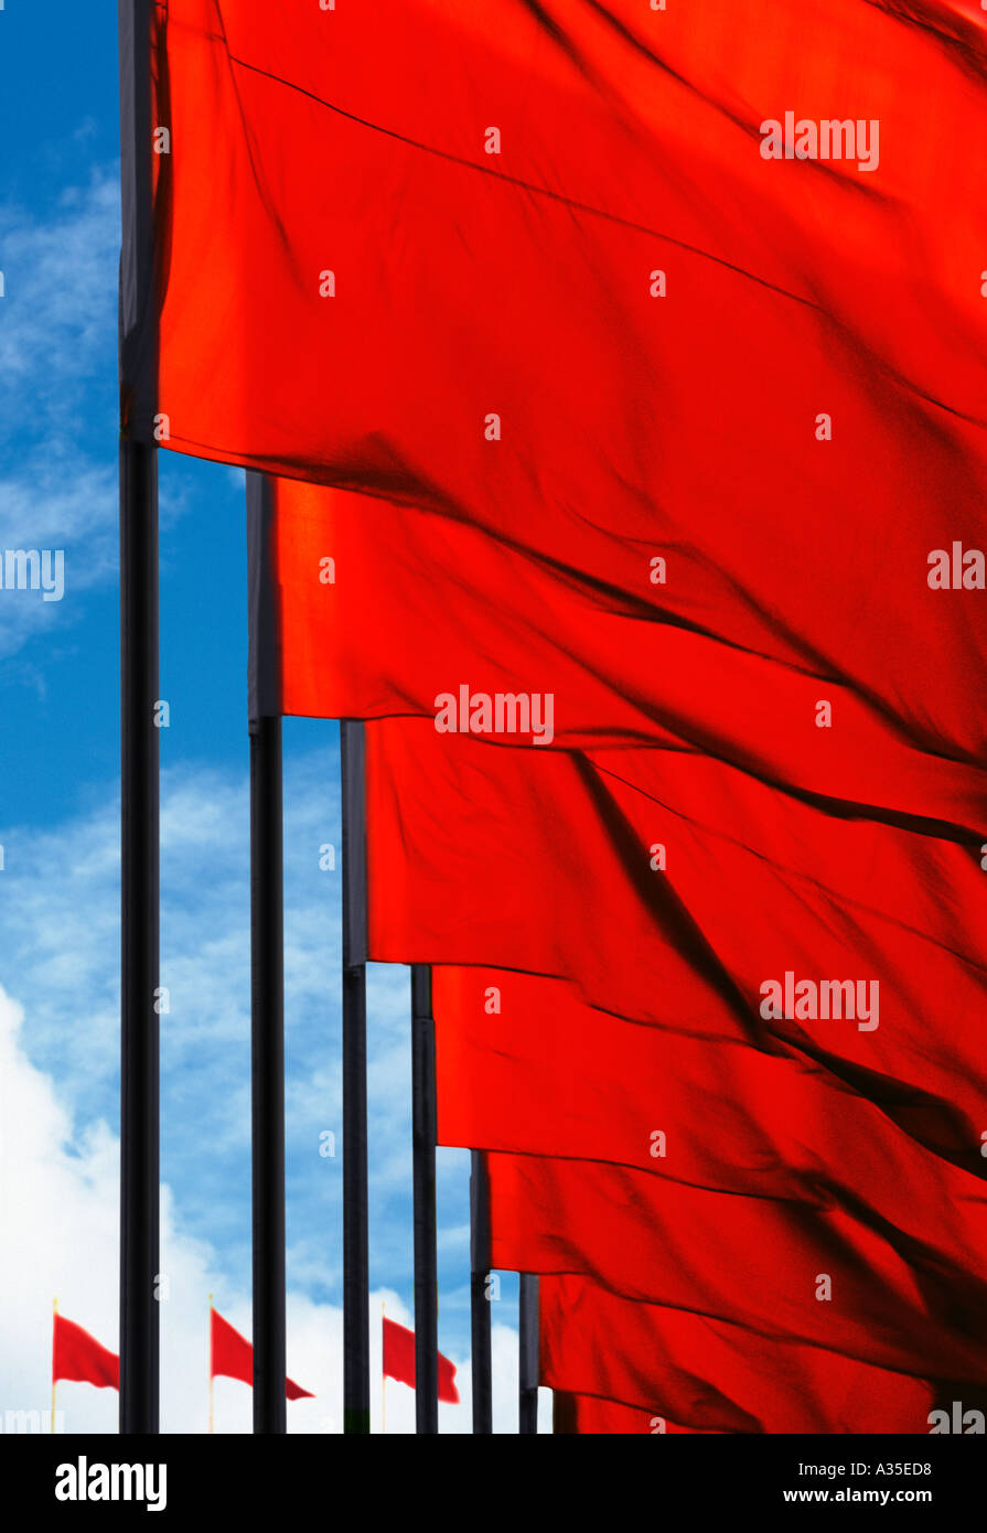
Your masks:
M 150 0 L 120 0 L 120 1430 L 158 1430 L 158 457 L 133 440 L 156 377 Z

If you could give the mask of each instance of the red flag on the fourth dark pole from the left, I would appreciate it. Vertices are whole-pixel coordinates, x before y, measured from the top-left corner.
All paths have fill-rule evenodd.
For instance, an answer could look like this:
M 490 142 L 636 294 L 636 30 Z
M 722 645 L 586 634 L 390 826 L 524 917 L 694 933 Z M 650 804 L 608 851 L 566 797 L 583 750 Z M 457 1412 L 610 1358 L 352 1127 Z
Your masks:
M 924 1151 L 811 1059 L 641 1027 L 570 984 L 500 969 L 435 967 L 432 1009 L 440 1144 L 622 1164 L 815 1208 L 837 1200 L 944 1268 L 987 1269 L 982 1179 Z

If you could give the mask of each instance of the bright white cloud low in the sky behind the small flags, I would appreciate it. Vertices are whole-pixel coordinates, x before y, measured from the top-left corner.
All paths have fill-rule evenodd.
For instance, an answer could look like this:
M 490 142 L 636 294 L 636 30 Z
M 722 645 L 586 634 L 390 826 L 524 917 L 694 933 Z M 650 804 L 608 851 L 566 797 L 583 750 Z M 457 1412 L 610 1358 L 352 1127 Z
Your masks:
M 0 990 L 0 1420 L 8 1410 L 49 1409 L 52 1298 L 116 1348 L 118 1145 L 106 1124 L 78 1133 L 54 1082 L 23 1049 L 23 1010 Z M 162 1429 L 205 1432 L 208 1423 L 208 1294 L 250 1335 L 250 1300 L 230 1285 L 208 1243 L 182 1229 L 167 1188 L 162 1199 Z M 380 1430 L 380 1314 L 409 1325 L 400 1297 L 371 1297 L 372 1430 Z M 494 1328 L 497 1429 L 516 1430 L 516 1332 Z M 471 1430 L 469 1360 L 455 1357 L 460 1406 L 441 1406 L 443 1432 Z M 291 1432 L 339 1432 L 342 1424 L 342 1312 L 303 1294 L 288 1298 L 288 1372 L 316 1395 L 288 1406 Z M 388 1432 L 414 1430 L 414 1393 L 388 1383 Z M 61 1383 L 66 1432 L 115 1432 L 115 1390 Z M 250 1389 L 216 1380 L 219 1432 L 250 1432 Z

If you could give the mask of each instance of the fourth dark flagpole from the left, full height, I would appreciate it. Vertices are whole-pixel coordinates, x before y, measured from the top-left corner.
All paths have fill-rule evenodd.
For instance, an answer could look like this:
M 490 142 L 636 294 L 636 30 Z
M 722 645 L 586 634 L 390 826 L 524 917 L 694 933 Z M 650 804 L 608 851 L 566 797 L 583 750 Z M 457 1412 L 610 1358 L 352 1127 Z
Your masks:
M 432 970 L 411 966 L 411 1102 L 415 1237 L 415 1430 L 438 1432 L 438 1262 L 435 1252 L 435 1023 Z

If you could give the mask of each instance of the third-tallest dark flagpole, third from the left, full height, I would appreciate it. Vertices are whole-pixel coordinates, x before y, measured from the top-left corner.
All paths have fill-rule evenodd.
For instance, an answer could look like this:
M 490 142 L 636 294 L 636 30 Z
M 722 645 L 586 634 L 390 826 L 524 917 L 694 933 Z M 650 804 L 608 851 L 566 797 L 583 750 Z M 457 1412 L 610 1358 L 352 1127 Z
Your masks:
M 366 794 L 363 725 L 340 721 L 343 808 L 343 1432 L 369 1432 Z

